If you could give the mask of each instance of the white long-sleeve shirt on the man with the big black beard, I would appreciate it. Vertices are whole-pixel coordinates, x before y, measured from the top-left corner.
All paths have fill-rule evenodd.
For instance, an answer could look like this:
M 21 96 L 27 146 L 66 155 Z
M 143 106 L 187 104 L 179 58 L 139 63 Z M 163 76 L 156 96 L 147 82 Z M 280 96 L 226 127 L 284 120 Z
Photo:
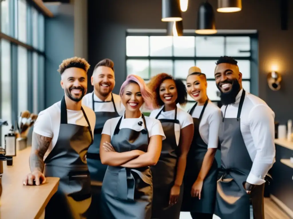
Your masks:
M 237 118 L 243 89 L 236 96 L 235 104 L 228 105 L 225 118 Z M 224 116 L 226 106 L 221 107 Z M 247 182 L 254 185 L 265 183 L 264 177 L 275 163 L 275 113 L 257 96 L 245 91 L 240 115 L 240 130 L 248 154 L 253 161 Z

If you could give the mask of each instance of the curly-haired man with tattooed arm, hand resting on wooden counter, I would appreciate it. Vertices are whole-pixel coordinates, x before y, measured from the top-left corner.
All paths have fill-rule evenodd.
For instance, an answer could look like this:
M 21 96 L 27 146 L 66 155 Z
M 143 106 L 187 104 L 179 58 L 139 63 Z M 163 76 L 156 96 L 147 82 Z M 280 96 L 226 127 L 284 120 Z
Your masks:
M 45 218 L 87 218 L 91 203 L 86 153 L 93 142 L 96 116 L 82 105 L 90 65 L 82 58 L 63 60 L 58 71 L 64 97 L 39 113 L 33 129 L 30 170 L 24 185 L 42 185 L 59 177 L 58 191 L 45 209 Z M 45 159 L 44 159 L 45 157 Z

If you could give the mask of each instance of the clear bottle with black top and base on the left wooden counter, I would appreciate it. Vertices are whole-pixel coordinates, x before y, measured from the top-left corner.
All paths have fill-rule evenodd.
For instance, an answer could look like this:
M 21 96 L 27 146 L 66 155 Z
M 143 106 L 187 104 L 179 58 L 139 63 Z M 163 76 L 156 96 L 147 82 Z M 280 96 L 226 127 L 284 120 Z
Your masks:
M 11 126 L 9 133 L 4 136 L 5 139 L 5 157 L 7 158 L 7 165 L 12 165 L 12 157 L 16 156 L 16 134 L 14 127 Z

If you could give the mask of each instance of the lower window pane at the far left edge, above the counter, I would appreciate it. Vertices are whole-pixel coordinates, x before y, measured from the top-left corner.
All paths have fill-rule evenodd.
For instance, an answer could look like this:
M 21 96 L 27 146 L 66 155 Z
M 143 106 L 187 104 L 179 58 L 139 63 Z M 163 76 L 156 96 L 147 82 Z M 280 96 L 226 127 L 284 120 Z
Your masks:
M 1 40 L 1 119 L 8 122 L 8 126 L 1 126 L 1 145 L 4 147 L 4 135 L 8 133 L 12 122 L 11 108 L 11 49 L 10 43 Z

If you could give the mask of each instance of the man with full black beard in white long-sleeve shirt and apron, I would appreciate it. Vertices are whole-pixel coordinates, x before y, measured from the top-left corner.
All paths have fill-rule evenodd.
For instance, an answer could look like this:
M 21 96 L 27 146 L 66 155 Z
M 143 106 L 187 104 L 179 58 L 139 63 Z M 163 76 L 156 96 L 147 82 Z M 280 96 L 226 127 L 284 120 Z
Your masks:
M 242 87 L 242 74 L 232 57 L 220 57 L 215 80 L 221 92 L 223 119 L 219 130 L 223 174 L 217 184 L 216 214 L 222 219 L 263 219 L 265 177 L 275 162 L 275 114 Z

